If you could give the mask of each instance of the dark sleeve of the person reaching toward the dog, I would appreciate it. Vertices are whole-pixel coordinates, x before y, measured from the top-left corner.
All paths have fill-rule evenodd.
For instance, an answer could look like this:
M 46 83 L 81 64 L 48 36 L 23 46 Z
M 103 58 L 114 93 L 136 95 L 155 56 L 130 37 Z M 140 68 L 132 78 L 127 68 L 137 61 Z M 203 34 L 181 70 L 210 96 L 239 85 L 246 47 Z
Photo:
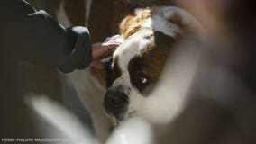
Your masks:
M 4 4 L 0 6 L 5 21 L 1 35 L 5 49 L 12 49 L 15 58 L 59 67 L 63 72 L 90 64 L 92 49 L 87 28 L 65 29 L 50 14 L 36 11 L 21 0 L 6 2 L 8 8 Z

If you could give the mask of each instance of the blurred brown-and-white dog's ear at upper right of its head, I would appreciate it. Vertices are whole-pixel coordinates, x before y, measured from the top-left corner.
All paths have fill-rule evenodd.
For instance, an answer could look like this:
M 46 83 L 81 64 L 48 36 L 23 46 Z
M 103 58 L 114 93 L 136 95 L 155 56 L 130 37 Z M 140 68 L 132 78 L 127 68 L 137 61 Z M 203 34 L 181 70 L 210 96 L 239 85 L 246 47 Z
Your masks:
M 160 6 L 153 13 L 162 15 L 170 23 L 178 24 L 183 30 L 203 32 L 204 28 L 192 14 L 176 6 Z

